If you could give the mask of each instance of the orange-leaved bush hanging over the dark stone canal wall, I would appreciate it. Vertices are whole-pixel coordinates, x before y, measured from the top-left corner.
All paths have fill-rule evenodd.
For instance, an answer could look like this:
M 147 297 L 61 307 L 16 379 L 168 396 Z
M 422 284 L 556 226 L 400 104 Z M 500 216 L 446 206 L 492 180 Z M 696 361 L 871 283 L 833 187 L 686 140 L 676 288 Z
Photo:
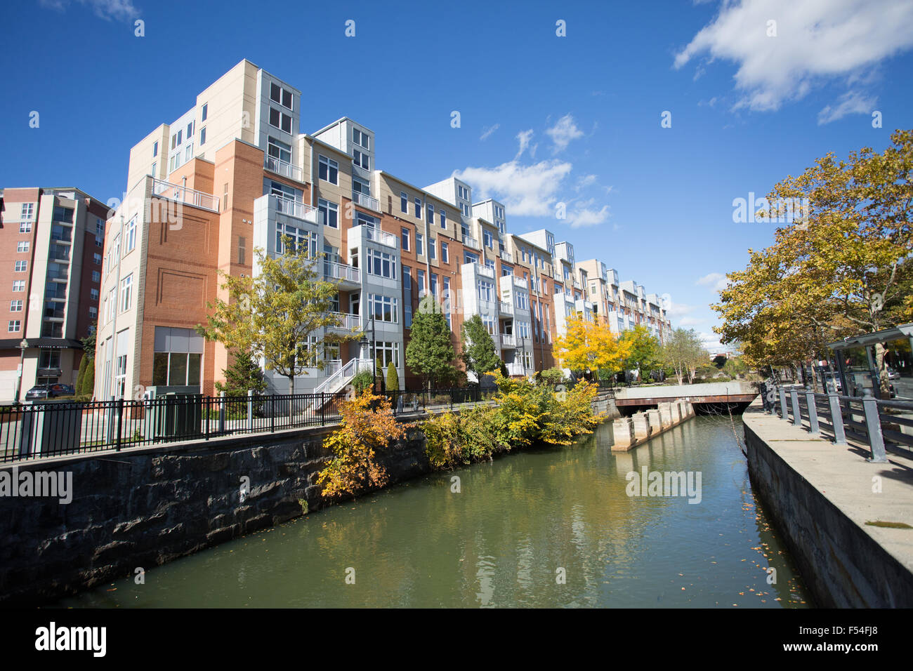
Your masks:
M 317 477 L 321 495 L 341 498 L 383 488 L 388 476 L 377 451 L 402 438 L 404 425 L 396 421 L 390 402 L 370 388 L 342 403 L 340 412 L 340 428 L 323 441 L 335 456 Z

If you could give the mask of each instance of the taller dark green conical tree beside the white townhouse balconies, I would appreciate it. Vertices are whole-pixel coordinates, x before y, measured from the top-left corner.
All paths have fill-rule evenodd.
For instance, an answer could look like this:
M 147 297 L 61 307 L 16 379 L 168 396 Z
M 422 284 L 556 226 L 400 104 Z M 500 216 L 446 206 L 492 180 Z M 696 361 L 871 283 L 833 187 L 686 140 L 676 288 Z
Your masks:
M 420 375 L 428 389 L 432 383 L 456 376 L 454 347 L 444 312 L 430 294 L 422 299 L 412 320 L 411 338 L 405 348 L 405 363 Z

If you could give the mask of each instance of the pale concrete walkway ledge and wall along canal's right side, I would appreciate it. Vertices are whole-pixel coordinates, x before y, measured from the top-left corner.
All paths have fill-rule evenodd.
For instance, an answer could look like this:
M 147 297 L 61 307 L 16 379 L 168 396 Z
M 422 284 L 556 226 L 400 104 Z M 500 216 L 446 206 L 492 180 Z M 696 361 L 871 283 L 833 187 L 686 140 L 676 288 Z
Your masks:
M 913 460 L 872 464 L 762 412 L 742 415 L 752 487 L 825 607 L 913 607 Z M 878 490 L 880 488 L 880 491 Z

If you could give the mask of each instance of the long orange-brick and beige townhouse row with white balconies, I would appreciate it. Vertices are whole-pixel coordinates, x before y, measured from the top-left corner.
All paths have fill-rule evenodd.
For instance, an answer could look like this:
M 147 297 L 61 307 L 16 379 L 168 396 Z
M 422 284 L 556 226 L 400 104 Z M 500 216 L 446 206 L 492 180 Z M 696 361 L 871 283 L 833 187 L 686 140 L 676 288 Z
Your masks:
M 455 177 L 419 187 L 378 170 L 375 134 L 361 123 L 301 131 L 303 102 L 243 60 L 131 149 L 128 191 L 104 226 L 96 397 L 213 393 L 229 352 L 194 326 L 207 303 L 228 298 L 218 272 L 256 274 L 254 249 L 281 254 L 287 236 L 324 255 L 339 329 L 367 333 L 326 345 L 324 369 L 301 375 L 296 391 L 337 391 L 373 360 L 393 362 L 401 387 L 415 388 L 404 351 L 428 293 L 457 351 L 463 321 L 479 314 L 512 375 L 556 365 L 552 343 L 575 313 L 666 337 L 656 294 L 577 261 L 551 231 L 509 233 L 504 205 L 475 202 Z

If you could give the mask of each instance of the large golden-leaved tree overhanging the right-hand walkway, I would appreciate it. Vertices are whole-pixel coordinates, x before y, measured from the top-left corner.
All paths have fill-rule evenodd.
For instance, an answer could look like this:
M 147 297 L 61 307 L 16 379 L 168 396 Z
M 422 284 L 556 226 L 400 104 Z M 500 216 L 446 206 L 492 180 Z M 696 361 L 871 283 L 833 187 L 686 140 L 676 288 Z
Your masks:
M 801 203 L 801 212 L 777 228 L 771 247 L 750 250 L 749 266 L 729 273 L 713 306 L 723 320 L 720 340 L 742 341 L 748 362 L 796 365 L 828 342 L 910 318 L 913 131 L 895 131 L 891 142 L 846 161 L 828 153 L 771 190 L 761 217 L 782 217 L 790 203 Z M 882 345 L 876 366 L 884 396 Z

